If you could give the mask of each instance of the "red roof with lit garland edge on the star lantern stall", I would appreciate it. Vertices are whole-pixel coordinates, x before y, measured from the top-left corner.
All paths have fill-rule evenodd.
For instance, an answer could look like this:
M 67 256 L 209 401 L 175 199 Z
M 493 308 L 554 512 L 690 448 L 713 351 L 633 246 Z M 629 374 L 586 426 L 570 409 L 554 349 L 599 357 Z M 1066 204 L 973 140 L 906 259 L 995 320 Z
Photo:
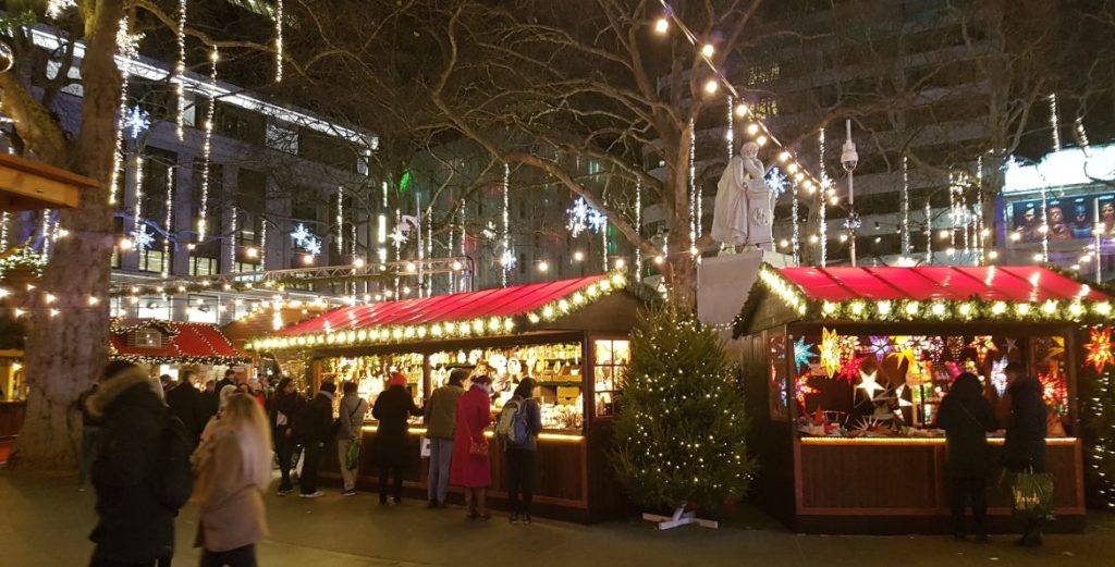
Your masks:
M 780 300 L 780 313 L 762 303 Z M 764 265 L 734 335 L 757 319 L 1108 323 L 1108 293 L 1043 266 L 774 267 Z

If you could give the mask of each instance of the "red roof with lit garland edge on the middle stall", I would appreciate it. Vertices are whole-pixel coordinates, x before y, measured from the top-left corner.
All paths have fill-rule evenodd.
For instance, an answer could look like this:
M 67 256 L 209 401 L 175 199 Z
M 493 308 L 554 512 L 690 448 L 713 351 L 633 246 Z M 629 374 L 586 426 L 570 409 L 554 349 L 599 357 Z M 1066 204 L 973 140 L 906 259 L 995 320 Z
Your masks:
M 467 339 L 545 325 L 627 287 L 621 272 L 341 307 L 252 341 L 250 349 Z

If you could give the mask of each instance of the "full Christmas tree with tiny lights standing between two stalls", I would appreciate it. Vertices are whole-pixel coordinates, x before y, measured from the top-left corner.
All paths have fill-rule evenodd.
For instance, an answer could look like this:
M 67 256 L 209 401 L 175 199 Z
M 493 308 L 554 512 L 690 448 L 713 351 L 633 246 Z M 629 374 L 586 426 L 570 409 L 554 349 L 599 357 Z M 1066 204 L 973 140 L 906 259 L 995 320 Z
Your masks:
M 716 508 L 746 493 L 744 395 L 720 339 L 691 314 L 647 312 L 631 334 L 631 364 L 615 420 L 614 465 L 651 510 Z

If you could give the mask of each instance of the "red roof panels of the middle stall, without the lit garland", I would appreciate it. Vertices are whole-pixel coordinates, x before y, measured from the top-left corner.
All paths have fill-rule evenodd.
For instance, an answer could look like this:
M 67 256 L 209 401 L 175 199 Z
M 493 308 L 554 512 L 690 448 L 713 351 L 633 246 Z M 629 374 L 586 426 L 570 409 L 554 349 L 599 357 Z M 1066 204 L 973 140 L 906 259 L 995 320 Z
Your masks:
M 574 280 L 511 285 L 478 292 L 341 307 L 288 326 L 275 335 L 292 336 L 331 331 L 521 316 L 599 284 L 610 275 L 601 274 Z

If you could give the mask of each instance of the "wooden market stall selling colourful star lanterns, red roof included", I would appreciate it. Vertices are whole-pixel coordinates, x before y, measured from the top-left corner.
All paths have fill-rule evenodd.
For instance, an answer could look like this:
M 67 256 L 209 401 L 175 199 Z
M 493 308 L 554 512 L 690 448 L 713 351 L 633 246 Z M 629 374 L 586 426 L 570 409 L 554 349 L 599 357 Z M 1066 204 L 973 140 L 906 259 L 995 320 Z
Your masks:
M 948 530 L 937 408 L 970 371 L 1004 423 L 1004 369 L 1021 362 L 1049 409 L 1051 528 L 1083 529 L 1077 374 L 1082 351 L 1109 348 L 1086 325 L 1109 323 L 1112 301 L 1039 266 L 763 266 L 733 342 L 763 463 L 757 502 L 805 532 Z M 991 527 L 1007 529 L 997 478 Z

